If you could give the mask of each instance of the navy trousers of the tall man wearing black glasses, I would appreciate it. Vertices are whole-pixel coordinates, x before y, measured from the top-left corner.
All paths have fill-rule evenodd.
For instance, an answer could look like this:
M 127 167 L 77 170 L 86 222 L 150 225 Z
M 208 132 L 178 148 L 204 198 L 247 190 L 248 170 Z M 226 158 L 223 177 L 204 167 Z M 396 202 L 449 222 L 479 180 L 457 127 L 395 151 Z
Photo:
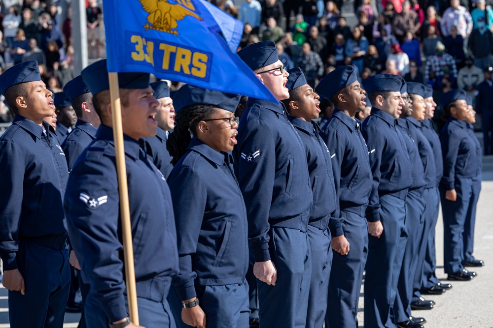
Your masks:
M 277 281 L 276 286 L 272 286 L 257 279 L 260 328 L 305 328 L 312 276 L 308 234 L 297 229 L 271 227 L 269 237 Z M 282 308 L 280 299 L 284 304 Z

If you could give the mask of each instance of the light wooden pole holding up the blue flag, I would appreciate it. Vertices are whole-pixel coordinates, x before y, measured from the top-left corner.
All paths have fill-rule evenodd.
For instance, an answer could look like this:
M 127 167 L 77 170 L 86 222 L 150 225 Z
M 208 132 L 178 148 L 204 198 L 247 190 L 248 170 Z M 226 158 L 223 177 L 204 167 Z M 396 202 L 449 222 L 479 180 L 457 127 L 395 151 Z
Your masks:
M 120 213 L 123 238 L 123 256 L 125 258 L 125 276 L 127 284 L 128 310 L 130 320 L 139 326 L 137 309 L 137 288 L 135 285 L 134 248 L 132 246 L 132 225 L 128 201 L 127 167 L 125 166 L 125 149 L 123 147 L 123 128 L 121 117 L 120 91 L 118 73 L 108 73 L 111 97 L 113 140 L 115 143 L 116 172 L 118 174 L 118 191 L 120 193 Z

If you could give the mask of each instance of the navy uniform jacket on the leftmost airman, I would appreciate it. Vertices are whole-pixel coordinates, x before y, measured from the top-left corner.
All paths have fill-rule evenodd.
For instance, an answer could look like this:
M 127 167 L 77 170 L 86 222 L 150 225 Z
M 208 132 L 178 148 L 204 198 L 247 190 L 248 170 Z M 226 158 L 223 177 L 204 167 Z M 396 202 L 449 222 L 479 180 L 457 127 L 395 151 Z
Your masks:
M 69 172 L 53 128 L 16 115 L 0 138 L 0 255 L 17 268 L 19 241 L 67 234 L 63 197 Z M 121 318 L 120 318 L 121 319 Z

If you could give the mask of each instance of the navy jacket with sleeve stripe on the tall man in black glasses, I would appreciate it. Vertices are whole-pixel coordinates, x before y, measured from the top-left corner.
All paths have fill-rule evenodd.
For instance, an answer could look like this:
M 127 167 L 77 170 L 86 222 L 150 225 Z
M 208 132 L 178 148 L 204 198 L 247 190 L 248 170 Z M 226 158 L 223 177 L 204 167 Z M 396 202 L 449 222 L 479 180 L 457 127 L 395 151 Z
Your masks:
M 272 225 L 307 231 L 312 188 L 301 139 L 284 105 L 248 99 L 238 127 L 235 173 L 248 215 L 255 262 L 270 260 Z

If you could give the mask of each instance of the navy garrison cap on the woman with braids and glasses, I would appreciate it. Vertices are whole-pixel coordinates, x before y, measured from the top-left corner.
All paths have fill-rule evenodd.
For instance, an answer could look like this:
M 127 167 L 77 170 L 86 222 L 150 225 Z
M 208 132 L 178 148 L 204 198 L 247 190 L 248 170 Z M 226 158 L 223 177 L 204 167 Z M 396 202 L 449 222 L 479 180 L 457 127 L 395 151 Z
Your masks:
M 182 108 L 198 104 L 212 105 L 234 113 L 240 99 L 241 95 L 239 94 L 224 93 L 186 84 L 176 91 L 173 106 L 176 113 Z

